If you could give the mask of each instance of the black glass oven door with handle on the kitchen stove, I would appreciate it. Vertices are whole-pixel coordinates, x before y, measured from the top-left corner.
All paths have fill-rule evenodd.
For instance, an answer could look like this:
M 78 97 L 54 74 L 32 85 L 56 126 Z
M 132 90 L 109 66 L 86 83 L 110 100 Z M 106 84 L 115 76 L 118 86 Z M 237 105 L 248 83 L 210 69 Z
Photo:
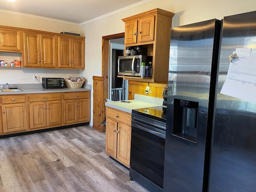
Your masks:
M 150 118 L 139 119 L 132 118 L 130 173 L 135 170 L 163 188 L 165 127 Z

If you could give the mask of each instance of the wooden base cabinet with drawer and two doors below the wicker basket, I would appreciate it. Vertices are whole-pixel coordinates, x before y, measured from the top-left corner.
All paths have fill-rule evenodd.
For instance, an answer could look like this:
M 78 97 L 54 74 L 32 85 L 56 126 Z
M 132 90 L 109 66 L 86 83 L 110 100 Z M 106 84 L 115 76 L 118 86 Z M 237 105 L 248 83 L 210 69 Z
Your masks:
M 64 124 L 90 121 L 90 92 L 64 94 Z

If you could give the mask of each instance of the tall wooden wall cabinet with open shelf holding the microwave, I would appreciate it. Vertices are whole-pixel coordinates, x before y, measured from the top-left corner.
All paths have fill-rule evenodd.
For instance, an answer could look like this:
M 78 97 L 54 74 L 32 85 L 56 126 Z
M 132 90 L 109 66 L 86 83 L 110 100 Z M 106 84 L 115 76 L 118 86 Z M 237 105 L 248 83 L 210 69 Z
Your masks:
M 124 79 L 143 82 L 168 81 L 173 16 L 172 12 L 156 8 L 122 19 L 125 22 L 125 50 L 127 47 L 141 46 L 143 54 L 153 56 L 152 78 L 123 76 Z

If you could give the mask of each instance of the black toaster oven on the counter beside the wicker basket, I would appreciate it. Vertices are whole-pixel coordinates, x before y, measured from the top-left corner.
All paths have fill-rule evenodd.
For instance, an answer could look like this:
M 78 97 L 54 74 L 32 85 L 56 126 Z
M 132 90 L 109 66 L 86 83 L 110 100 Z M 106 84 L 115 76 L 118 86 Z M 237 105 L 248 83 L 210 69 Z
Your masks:
M 42 77 L 42 87 L 46 89 L 65 88 L 64 78 L 59 77 Z

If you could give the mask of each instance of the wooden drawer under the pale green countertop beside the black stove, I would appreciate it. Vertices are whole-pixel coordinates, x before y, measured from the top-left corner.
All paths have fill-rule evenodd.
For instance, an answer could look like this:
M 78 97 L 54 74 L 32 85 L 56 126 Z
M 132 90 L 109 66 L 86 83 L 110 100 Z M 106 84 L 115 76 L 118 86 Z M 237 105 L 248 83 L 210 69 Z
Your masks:
M 112 108 L 107 108 L 106 116 L 108 118 L 111 118 L 112 120 L 114 120 L 116 122 L 122 122 L 122 123 L 124 123 L 126 125 L 131 125 L 131 121 L 132 121 L 131 114 L 123 113 L 120 110 L 116 110 L 116 109 L 112 109 Z

